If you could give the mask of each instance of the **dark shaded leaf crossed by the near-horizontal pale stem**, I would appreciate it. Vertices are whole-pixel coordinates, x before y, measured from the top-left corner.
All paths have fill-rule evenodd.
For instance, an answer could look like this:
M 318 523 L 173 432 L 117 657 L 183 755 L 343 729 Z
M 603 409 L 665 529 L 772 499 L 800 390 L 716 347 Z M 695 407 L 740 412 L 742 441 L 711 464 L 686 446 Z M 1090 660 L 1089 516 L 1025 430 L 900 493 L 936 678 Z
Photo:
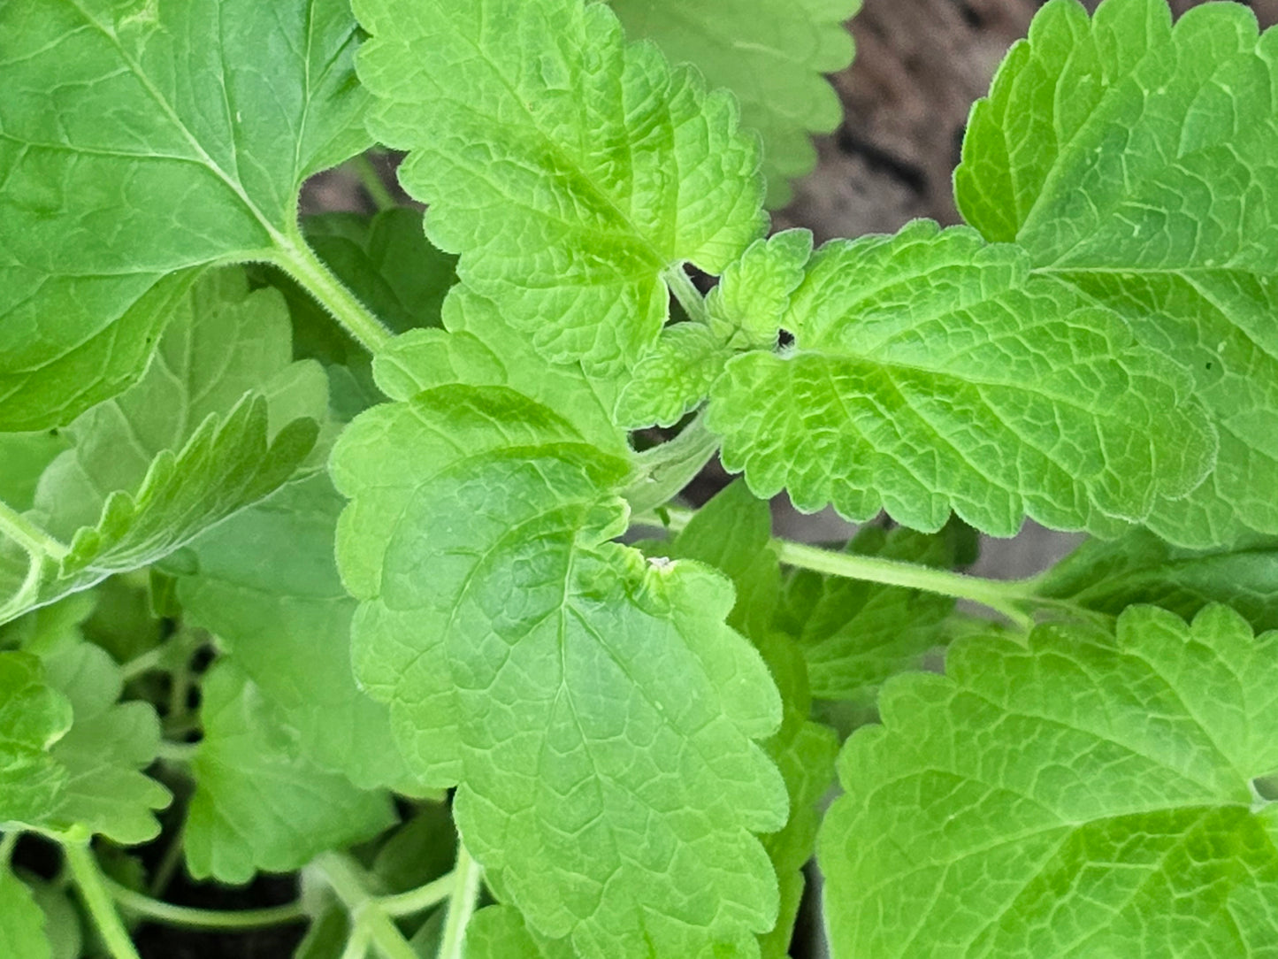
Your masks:
M 975 537 L 961 523 L 928 536 L 912 529 L 865 527 L 847 551 L 902 563 L 951 568 L 975 559 Z M 822 699 L 866 701 L 889 676 L 918 667 L 946 642 L 948 596 L 795 570 L 785 592 L 781 627 L 808 664 L 812 693 Z

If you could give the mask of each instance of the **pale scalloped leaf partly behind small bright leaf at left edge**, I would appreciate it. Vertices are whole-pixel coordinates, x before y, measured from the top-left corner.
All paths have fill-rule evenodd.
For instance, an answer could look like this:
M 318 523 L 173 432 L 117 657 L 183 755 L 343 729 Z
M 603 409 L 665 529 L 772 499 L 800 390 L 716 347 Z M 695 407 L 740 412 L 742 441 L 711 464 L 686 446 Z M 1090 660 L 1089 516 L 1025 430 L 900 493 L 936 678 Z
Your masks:
M 83 826 L 125 845 L 160 831 L 153 809 L 169 790 L 142 770 L 155 762 L 160 721 L 147 702 L 119 702 L 124 678 L 111 657 L 79 643 L 45 659 L 49 682 L 72 703 L 74 721 L 50 754 L 69 777 L 58 799 L 33 822 L 65 830 Z

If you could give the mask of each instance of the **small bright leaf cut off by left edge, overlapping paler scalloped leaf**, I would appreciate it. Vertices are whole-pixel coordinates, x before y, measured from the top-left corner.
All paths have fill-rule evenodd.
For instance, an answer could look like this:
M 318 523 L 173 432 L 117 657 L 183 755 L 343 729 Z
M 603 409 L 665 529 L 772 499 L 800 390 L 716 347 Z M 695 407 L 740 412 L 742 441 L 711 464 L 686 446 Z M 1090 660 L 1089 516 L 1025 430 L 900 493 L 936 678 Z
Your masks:
M 70 725 L 40 660 L 0 652 L 0 822 L 36 822 L 54 804 L 68 776 L 49 749 Z

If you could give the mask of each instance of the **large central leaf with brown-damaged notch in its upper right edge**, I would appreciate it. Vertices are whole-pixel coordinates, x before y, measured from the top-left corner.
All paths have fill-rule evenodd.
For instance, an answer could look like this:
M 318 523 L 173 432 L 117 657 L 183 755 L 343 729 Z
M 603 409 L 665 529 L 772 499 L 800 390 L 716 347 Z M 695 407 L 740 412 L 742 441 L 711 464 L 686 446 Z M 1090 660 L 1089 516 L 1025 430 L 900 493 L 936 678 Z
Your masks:
M 533 927 L 748 949 L 776 916 L 749 832 L 785 820 L 753 742 L 780 702 L 721 577 L 606 542 L 626 463 L 509 387 L 442 386 L 359 417 L 332 472 L 360 679 Z

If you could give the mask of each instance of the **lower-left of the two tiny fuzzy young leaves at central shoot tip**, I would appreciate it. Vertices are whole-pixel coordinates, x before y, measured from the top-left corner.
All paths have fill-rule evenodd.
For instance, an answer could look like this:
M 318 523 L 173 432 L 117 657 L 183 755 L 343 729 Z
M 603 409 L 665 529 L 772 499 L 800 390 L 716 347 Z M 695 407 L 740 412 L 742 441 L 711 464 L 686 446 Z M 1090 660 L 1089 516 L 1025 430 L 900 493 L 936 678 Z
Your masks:
M 617 423 L 631 428 L 674 426 L 700 404 L 731 355 L 708 326 L 667 326 L 621 390 Z

